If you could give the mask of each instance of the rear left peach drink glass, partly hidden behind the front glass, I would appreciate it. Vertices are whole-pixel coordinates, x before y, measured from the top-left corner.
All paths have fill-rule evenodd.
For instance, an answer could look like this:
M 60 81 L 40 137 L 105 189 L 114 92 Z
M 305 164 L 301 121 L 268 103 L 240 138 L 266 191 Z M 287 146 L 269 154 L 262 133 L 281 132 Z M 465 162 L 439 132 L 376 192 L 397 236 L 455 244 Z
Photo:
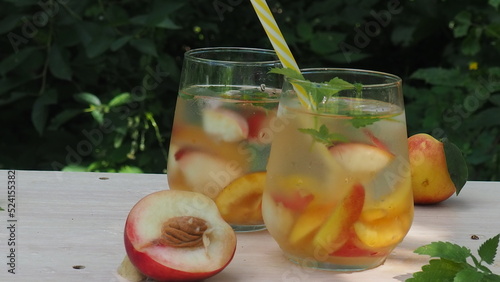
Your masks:
M 171 189 L 212 198 L 236 231 L 265 229 L 261 204 L 283 77 L 272 50 L 185 53 L 169 148 Z

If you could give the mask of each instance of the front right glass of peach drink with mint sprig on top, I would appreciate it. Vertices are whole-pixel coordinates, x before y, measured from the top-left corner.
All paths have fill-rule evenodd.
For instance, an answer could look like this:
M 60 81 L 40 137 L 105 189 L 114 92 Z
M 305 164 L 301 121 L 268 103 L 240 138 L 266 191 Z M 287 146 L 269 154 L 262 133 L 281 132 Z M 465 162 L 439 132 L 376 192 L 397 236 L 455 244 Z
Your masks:
M 401 79 L 307 69 L 286 79 L 263 194 L 268 231 L 306 267 L 382 264 L 413 220 Z M 340 78 L 340 80 L 339 80 Z M 306 81 L 307 80 L 307 81 Z M 314 109 L 301 104 L 300 86 Z

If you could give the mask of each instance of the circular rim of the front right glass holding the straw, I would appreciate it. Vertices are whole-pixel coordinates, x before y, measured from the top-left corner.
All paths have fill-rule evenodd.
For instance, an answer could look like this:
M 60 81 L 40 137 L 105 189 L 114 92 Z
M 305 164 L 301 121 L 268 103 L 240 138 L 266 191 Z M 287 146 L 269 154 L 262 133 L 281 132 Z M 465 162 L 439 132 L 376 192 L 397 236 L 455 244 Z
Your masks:
M 391 86 L 397 86 L 402 83 L 401 77 L 395 75 L 395 74 L 390 74 L 387 72 L 382 72 L 382 71 L 376 71 L 376 70 L 366 70 L 366 69 L 353 69 L 353 68 L 305 68 L 300 70 L 302 74 L 307 75 L 307 74 L 312 74 L 312 73 L 351 73 L 351 74 L 362 74 L 370 77 L 379 77 L 379 78 L 385 78 L 385 79 L 390 79 L 391 81 L 389 82 L 381 82 L 381 83 L 361 83 L 362 88 L 384 88 L 384 87 L 391 87 Z M 334 78 L 332 76 L 331 78 Z M 297 78 L 290 78 L 290 77 L 285 77 L 285 80 L 288 81 L 289 83 L 300 83 L 300 84 L 314 84 L 314 85 L 321 85 L 325 87 L 331 87 L 328 83 L 325 82 L 315 82 L 315 81 L 309 81 L 305 79 L 297 79 Z M 348 81 L 350 83 L 354 83 L 352 81 Z

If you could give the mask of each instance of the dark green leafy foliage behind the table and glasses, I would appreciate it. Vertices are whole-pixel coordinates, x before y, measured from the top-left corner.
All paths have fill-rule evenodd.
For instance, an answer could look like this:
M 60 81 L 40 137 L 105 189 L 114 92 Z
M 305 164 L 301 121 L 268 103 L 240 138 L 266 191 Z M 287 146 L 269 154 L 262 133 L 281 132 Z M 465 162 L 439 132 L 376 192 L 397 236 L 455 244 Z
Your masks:
M 500 180 L 500 0 L 268 4 L 301 67 L 401 76 L 409 135 Z M 0 5 L 0 168 L 163 173 L 183 53 L 271 48 L 244 0 Z

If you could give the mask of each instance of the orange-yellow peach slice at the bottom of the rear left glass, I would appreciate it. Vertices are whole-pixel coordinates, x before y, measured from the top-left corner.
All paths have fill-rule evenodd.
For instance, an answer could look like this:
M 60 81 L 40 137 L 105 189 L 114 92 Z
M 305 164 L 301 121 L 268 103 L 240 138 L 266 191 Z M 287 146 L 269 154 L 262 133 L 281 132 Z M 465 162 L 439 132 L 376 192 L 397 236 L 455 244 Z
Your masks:
M 227 222 L 231 224 L 262 224 L 262 192 L 266 172 L 243 175 L 224 188 L 215 203 Z

